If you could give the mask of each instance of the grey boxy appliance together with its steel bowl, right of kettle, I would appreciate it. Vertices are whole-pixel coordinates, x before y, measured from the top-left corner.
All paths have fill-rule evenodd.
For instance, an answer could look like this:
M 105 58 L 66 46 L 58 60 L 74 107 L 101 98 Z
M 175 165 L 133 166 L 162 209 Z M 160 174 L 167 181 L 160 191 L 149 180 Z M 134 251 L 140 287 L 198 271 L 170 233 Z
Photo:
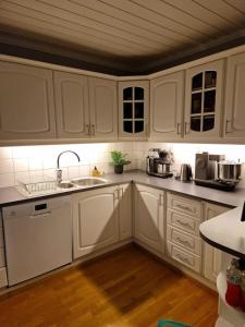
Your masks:
M 241 162 L 225 161 L 224 155 L 196 154 L 195 184 L 232 191 L 241 179 Z

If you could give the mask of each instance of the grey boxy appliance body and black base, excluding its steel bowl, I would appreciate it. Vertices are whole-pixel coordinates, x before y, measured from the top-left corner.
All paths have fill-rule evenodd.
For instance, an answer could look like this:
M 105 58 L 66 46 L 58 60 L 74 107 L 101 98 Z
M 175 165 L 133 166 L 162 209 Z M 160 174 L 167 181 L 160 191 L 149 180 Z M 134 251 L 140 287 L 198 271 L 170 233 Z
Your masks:
M 195 184 L 223 191 L 234 190 L 237 181 L 220 178 L 220 164 L 224 159 L 224 155 L 196 154 Z

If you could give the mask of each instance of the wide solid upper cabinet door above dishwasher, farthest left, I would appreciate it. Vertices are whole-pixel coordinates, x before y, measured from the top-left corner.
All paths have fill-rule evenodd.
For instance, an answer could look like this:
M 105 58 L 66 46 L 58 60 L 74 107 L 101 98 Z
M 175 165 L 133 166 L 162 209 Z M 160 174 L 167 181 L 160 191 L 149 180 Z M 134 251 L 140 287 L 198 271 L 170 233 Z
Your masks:
M 0 62 L 0 138 L 54 137 L 52 72 Z

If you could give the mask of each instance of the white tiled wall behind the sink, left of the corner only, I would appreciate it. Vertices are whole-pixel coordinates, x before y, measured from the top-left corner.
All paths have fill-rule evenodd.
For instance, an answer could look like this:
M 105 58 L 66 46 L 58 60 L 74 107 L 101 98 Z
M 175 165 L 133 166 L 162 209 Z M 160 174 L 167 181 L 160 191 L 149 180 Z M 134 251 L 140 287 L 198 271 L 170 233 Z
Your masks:
M 131 142 L 0 147 L 0 187 L 15 185 L 19 180 L 28 183 L 38 181 L 44 175 L 54 178 L 57 157 L 68 149 L 76 152 L 81 162 L 72 154 L 63 155 L 60 159 L 63 179 L 88 175 L 95 165 L 106 173 L 112 172 L 112 149 L 128 154 L 132 164 L 125 169 L 136 168 Z

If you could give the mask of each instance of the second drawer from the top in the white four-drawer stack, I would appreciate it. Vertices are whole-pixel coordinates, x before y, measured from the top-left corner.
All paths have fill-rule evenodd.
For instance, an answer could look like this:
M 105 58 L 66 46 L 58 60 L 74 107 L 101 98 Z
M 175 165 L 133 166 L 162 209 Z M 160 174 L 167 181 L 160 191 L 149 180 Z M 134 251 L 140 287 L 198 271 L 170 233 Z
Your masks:
M 167 210 L 167 222 L 194 235 L 199 235 L 200 221 L 196 218 L 179 214 L 171 209 Z

